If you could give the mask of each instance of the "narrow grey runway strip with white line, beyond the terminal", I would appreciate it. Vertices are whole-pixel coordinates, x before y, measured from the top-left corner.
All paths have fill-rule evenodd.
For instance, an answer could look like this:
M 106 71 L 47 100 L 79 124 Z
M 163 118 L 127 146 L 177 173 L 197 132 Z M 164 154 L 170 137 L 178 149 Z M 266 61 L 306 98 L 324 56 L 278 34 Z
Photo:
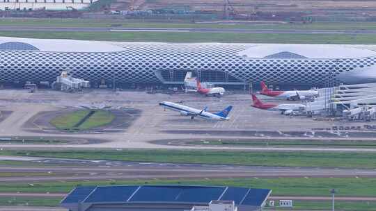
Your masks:
M 251 26 L 250 26 L 251 27 Z M 310 29 L 252 29 L 252 28 L 125 28 L 125 27 L 40 27 L 40 26 L 0 26 L 0 31 L 139 31 L 139 32 L 192 32 L 192 33 L 279 33 L 279 34 L 376 34 L 373 30 L 310 30 Z

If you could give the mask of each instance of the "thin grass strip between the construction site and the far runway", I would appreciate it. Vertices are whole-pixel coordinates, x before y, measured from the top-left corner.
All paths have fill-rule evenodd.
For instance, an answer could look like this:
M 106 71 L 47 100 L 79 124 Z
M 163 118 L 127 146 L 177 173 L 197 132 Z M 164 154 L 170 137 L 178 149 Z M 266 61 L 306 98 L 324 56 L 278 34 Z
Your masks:
M 58 27 L 121 27 L 145 28 L 247 28 L 258 29 L 316 29 L 316 30 L 376 30 L 375 22 L 314 22 L 312 24 L 192 24 L 188 21 L 160 22 L 132 19 L 54 19 L 3 18 L 1 26 L 58 26 Z

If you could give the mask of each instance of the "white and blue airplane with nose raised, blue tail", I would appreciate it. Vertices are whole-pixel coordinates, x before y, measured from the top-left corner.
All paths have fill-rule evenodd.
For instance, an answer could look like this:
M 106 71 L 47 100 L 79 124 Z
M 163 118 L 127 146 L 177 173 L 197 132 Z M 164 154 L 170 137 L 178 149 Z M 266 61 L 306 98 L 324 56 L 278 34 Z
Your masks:
M 229 120 L 230 117 L 228 117 L 228 114 L 233 108 L 233 106 L 230 105 L 224 110 L 222 110 L 221 112 L 211 113 L 211 112 L 206 111 L 207 107 L 204 108 L 203 110 L 198 110 L 196 108 L 191 108 L 186 105 L 180 105 L 178 103 L 171 103 L 171 102 L 166 102 L 166 101 L 159 103 L 159 105 L 169 110 L 180 112 L 180 115 L 191 117 L 191 119 L 194 119 L 194 117 L 201 117 L 203 119 L 211 119 L 211 120 L 216 120 L 216 121 Z

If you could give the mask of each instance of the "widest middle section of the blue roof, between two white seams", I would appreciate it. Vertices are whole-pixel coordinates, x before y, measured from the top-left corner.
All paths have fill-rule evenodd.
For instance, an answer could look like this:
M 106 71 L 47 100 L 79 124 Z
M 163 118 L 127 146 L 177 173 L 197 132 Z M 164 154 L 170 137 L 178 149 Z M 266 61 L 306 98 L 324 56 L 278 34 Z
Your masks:
M 202 202 L 217 200 L 224 187 L 143 186 L 130 201 Z

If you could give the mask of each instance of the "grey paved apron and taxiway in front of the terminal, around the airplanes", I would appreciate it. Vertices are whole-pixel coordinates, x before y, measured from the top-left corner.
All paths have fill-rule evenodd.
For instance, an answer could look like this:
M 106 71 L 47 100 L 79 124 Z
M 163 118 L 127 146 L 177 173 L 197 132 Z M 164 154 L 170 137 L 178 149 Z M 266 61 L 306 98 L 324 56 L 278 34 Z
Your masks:
M 285 101 L 260 96 L 265 102 Z M 209 106 L 211 112 L 234 105 L 229 121 L 207 121 L 184 117 L 177 112 L 166 111 L 157 104 L 160 101 L 183 101 L 193 108 Z M 114 108 L 137 108 L 139 112 L 121 117 L 123 124 L 116 128 L 97 128 L 77 133 L 56 130 L 49 124 L 49 113 L 78 108 L 82 104 L 104 103 Z M 270 147 L 270 146 L 187 146 L 175 140 L 368 140 L 373 141 L 376 131 L 366 130 L 364 122 L 314 120 L 307 117 L 288 117 L 279 112 L 251 108 L 248 94 L 230 94 L 218 98 L 198 94 L 146 94 L 145 92 L 112 92 L 88 90 L 81 93 L 62 93 L 52 90 L 0 90 L 0 110 L 10 115 L 0 121 L 0 148 L 47 149 L 56 144 L 12 143 L 9 138 L 33 140 L 68 140 L 59 148 L 133 148 L 133 149 L 221 149 L 249 151 L 359 151 L 374 152 L 374 148 L 361 147 Z M 121 115 L 119 115 L 121 116 Z M 367 124 L 373 124 L 372 122 Z M 361 130 L 333 130 L 336 126 L 358 126 Z M 77 140 L 81 140 L 77 142 Z M 86 143 L 86 144 L 82 144 Z

